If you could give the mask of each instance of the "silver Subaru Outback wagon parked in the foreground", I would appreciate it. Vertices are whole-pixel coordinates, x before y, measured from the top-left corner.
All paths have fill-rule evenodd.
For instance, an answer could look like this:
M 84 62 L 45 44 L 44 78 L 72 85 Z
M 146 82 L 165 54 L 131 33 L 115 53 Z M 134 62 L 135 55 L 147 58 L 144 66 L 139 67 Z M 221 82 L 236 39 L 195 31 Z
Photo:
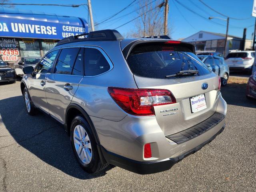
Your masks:
M 225 127 L 220 77 L 192 44 L 168 37 L 70 36 L 23 71 L 28 114 L 40 109 L 63 124 L 89 173 L 108 164 L 138 174 L 168 170 Z

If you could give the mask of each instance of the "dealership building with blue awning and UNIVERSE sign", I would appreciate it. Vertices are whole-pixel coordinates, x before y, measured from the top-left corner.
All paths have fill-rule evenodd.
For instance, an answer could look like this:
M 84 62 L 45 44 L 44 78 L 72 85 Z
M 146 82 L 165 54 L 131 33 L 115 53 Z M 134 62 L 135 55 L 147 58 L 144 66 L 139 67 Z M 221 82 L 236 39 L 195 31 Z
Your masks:
M 85 32 L 83 18 L 0 7 L 0 59 L 42 57 L 60 39 Z

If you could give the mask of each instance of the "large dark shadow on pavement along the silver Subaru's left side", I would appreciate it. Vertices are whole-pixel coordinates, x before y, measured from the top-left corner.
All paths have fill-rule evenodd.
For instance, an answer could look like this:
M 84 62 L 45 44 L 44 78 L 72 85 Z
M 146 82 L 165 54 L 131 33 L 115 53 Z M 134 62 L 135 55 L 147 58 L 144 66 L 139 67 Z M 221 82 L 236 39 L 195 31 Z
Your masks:
M 0 106 L 2 122 L 16 140 L 13 144 L 18 143 L 47 164 L 79 179 L 104 176 L 107 170 L 114 167 L 110 165 L 97 174 L 88 174 L 82 170 L 76 162 L 70 138 L 64 128 L 42 112 L 29 116 L 22 96 L 0 100 Z M 0 146 L 0 149 L 10 145 Z

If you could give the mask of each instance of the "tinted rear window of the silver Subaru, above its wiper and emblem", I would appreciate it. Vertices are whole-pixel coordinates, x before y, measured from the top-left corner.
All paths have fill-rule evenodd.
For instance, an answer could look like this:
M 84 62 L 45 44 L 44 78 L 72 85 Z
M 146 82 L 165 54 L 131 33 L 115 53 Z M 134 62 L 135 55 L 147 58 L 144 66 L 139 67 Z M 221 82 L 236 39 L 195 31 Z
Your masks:
M 186 47 L 177 45 L 139 45 L 127 58 L 133 74 L 148 78 L 165 78 L 182 70 L 198 70 L 198 74 L 209 74 L 210 70 Z M 184 78 L 175 76 L 170 78 Z

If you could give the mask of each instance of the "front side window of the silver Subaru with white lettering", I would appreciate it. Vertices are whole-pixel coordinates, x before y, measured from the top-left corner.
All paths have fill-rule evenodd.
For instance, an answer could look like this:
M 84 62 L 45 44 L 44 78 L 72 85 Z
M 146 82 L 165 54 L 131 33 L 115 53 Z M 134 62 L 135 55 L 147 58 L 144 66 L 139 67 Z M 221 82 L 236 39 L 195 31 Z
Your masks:
M 44 56 L 44 58 L 37 65 L 35 73 L 50 73 L 52 70 L 54 59 L 56 58 L 58 52 L 59 50 L 55 50 Z

